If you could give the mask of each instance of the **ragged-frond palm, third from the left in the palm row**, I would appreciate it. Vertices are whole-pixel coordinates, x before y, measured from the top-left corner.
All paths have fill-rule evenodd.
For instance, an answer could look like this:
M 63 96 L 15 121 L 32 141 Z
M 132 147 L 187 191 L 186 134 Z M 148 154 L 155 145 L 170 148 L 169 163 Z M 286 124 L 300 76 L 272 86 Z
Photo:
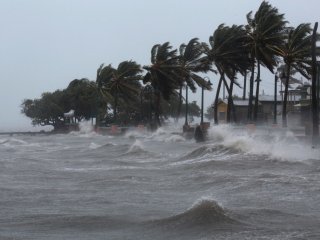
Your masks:
M 179 106 L 178 106 L 178 114 L 177 118 L 180 116 L 181 105 L 182 105 L 182 87 L 185 85 L 186 94 L 188 91 L 188 87 L 192 90 L 192 92 L 196 91 L 196 86 L 198 85 L 201 88 L 205 88 L 207 90 L 211 90 L 211 85 L 207 80 L 205 80 L 202 76 L 198 75 L 199 72 L 206 73 L 211 69 L 210 64 L 205 61 L 205 57 L 203 55 L 204 49 L 203 44 L 198 41 L 198 38 L 193 38 L 189 41 L 189 43 L 181 44 L 179 48 L 179 62 L 181 67 L 181 76 L 182 82 L 180 82 L 180 91 L 179 91 Z M 186 98 L 187 101 L 187 98 Z M 188 103 L 186 102 L 186 105 Z M 187 107 L 186 107 L 186 116 L 187 116 Z M 187 120 L 186 120 L 187 124 Z

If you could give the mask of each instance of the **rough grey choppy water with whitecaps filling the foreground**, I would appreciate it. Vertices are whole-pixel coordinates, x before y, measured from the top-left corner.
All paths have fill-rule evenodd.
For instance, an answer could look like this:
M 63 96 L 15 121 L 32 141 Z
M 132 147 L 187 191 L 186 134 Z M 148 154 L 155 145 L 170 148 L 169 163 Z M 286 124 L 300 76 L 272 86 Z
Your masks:
M 0 137 L 0 239 L 320 239 L 320 150 L 227 126 Z

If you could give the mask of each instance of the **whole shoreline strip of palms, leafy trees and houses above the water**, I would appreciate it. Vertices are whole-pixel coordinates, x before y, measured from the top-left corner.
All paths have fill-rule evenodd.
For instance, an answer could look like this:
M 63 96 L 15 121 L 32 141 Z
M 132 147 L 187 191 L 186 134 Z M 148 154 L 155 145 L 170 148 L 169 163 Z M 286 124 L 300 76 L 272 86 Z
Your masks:
M 281 117 L 286 128 L 295 118 L 297 126 L 319 138 L 318 24 L 290 26 L 267 1 L 246 18 L 242 25 L 219 25 L 207 42 L 193 38 L 177 49 L 170 42 L 155 44 L 148 65 L 133 60 L 118 66 L 101 64 L 94 80 L 74 79 L 65 89 L 25 99 L 22 113 L 33 125 L 51 125 L 59 132 L 84 119 L 91 119 L 96 127 L 156 129 L 166 118 L 182 115 L 187 130 L 195 116 L 204 126 L 203 101 L 200 107 L 188 102 L 188 91 L 200 88 L 202 97 L 203 91 L 212 91 L 212 80 L 206 76 L 210 73 L 217 76 L 218 84 L 205 116 L 215 124 L 278 125 Z M 260 93 L 261 68 L 274 74 L 274 79 L 264 80 L 275 86 L 268 101 Z M 243 96 L 236 96 L 235 88 L 241 88 Z

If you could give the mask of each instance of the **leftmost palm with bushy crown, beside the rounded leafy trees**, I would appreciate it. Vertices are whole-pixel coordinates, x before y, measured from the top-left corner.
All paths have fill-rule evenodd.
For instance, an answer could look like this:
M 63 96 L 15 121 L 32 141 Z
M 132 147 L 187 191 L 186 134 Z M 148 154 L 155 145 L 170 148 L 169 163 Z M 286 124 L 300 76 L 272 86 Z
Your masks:
M 119 100 L 125 103 L 137 100 L 141 89 L 139 80 L 142 79 L 140 75 L 142 69 L 135 61 L 123 61 L 117 68 L 108 65 L 101 71 L 103 73 L 101 84 L 113 97 L 113 117 L 116 122 Z

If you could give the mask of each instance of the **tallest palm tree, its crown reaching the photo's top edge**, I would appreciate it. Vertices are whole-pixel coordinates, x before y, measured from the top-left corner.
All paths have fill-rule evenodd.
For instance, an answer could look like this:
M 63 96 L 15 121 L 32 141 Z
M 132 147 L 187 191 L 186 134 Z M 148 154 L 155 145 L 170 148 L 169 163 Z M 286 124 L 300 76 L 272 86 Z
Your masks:
M 256 97 L 254 108 L 254 121 L 257 120 L 258 114 L 258 101 L 260 90 L 260 66 L 267 67 L 272 73 L 274 67 L 277 66 L 277 57 L 275 55 L 275 48 L 283 44 L 284 41 L 284 28 L 286 21 L 284 14 L 279 14 L 278 9 L 272 7 L 268 2 L 263 1 L 252 18 L 252 12 L 247 14 L 246 26 L 248 34 L 248 45 L 250 47 L 251 57 L 251 78 L 249 89 L 249 108 L 248 120 L 252 120 L 252 100 L 253 100 L 253 85 L 254 85 L 254 69 L 255 63 L 257 64 L 257 77 L 256 77 Z

